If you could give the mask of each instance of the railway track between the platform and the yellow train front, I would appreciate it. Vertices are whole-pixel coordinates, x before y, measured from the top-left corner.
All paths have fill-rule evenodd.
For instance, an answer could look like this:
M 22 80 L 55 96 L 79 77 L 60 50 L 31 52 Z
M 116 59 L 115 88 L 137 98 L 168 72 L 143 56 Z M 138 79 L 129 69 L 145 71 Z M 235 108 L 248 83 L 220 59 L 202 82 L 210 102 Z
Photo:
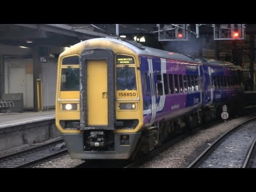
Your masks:
M 63 139 L 0 157 L 0 168 L 28 167 L 67 153 Z

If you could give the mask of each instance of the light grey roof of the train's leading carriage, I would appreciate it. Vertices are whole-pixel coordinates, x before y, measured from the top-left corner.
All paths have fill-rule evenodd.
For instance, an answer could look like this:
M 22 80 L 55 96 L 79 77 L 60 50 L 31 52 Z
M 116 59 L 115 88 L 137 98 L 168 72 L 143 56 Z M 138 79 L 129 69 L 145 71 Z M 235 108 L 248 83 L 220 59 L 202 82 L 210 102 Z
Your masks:
M 114 37 L 93 38 L 93 39 L 86 40 L 85 42 L 101 41 L 101 40 L 102 41 L 111 41 L 111 42 L 122 44 L 124 46 L 129 47 L 135 53 L 140 54 L 140 55 L 153 55 L 156 57 L 161 57 L 161 58 L 166 58 L 166 59 L 193 62 L 193 63 L 198 63 L 198 64 L 201 63 L 201 61 L 196 60 L 195 58 L 191 57 L 190 55 L 154 49 L 151 47 L 143 46 L 134 41 L 127 41 L 127 40 L 122 40 L 122 39 L 114 38 Z

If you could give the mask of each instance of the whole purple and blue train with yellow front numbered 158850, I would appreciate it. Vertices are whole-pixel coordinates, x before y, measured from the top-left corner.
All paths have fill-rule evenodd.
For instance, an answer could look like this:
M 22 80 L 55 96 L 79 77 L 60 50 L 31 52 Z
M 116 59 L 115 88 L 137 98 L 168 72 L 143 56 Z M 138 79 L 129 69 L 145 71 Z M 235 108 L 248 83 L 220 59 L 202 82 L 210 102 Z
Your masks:
M 244 106 L 242 67 L 94 38 L 58 60 L 55 124 L 74 159 L 134 159 Z

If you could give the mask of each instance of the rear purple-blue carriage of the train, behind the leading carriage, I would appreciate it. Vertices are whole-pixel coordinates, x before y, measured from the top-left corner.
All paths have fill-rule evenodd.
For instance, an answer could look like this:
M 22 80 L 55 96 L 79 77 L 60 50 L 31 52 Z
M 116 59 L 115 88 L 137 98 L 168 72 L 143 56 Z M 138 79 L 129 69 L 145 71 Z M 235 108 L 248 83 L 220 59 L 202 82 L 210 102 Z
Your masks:
M 226 105 L 231 115 L 239 115 L 244 108 L 243 70 L 227 61 L 199 59 L 203 63 L 204 119 L 220 117 Z

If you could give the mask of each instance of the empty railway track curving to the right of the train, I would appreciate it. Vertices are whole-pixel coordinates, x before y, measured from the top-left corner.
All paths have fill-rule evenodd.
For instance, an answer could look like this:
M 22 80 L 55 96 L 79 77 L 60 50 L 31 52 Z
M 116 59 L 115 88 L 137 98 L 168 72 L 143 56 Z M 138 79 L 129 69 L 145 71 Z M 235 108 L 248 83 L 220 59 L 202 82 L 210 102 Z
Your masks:
M 197 167 L 256 167 L 256 117 L 234 127 L 215 140 L 188 168 Z

